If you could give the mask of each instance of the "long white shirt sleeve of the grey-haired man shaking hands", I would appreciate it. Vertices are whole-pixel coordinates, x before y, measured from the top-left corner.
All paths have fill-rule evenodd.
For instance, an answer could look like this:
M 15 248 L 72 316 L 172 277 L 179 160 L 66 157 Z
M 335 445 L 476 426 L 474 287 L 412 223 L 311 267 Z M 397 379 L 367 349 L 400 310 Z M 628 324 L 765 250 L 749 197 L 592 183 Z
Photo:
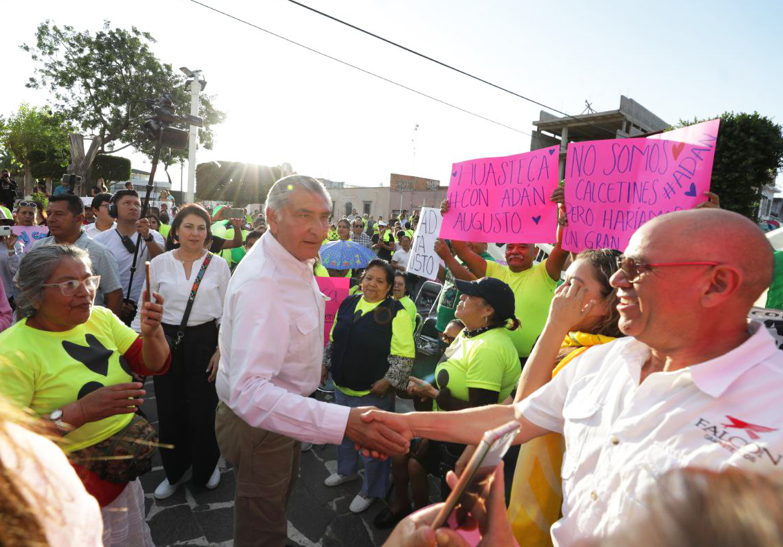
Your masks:
M 252 285 L 228 296 L 231 301 L 226 309 L 232 313 L 232 328 L 230 363 L 224 369 L 229 387 L 226 404 L 250 426 L 299 441 L 340 444 L 351 409 L 286 388 L 279 375 L 293 341 L 290 325 L 294 325 L 294 318 L 280 306 L 269 304 L 279 290 L 274 282 L 256 279 Z M 248 298 L 245 290 L 252 291 L 254 297 Z M 316 319 L 316 335 L 310 332 L 309 336 L 317 336 L 318 344 L 323 345 L 323 329 L 318 325 Z M 313 366 L 320 371 L 319 363 Z

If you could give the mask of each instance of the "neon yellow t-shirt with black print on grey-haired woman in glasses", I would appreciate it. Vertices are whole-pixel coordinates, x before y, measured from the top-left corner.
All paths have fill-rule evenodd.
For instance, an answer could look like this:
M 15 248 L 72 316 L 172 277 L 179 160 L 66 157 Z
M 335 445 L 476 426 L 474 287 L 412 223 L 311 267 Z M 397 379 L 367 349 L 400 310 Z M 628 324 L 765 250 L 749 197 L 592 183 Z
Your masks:
M 100 306 L 92 308 L 87 322 L 62 333 L 34 329 L 22 319 L 0 334 L 0 393 L 47 416 L 99 387 L 131 382 L 131 369 L 121 355 L 137 336 Z M 117 414 L 85 423 L 63 437 L 63 449 L 70 452 L 99 443 L 131 419 L 132 414 Z

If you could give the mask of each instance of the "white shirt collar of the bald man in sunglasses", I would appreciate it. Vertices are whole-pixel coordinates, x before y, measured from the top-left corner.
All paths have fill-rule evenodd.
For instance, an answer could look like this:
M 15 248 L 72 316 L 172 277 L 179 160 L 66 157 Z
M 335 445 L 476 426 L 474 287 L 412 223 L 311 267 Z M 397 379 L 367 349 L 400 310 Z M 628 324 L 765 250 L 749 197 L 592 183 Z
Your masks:
M 749 321 L 748 330 L 750 338 L 733 350 L 698 365 L 685 367 L 698 389 L 710 397 L 718 398 L 734 380 L 778 351 L 772 335 L 760 322 Z M 635 339 L 623 344 L 618 354 L 637 382 L 641 367 L 649 356 L 648 345 Z

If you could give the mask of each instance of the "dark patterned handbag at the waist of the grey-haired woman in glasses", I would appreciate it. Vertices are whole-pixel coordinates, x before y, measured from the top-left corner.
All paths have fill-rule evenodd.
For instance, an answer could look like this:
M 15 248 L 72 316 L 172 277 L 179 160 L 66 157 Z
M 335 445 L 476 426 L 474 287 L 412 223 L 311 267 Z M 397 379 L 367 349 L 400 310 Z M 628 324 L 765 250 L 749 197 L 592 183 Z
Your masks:
M 152 456 L 158 446 L 157 431 L 139 414 L 111 437 L 71 452 L 69 459 L 98 477 L 123 484 L 152 469 Z

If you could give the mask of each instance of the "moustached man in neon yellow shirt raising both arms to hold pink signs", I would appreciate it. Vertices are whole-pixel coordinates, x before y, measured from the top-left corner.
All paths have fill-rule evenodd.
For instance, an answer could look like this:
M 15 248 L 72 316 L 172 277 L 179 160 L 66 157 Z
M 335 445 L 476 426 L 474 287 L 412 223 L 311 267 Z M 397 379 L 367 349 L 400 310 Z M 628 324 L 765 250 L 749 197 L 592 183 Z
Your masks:
M 565 202 L 565 192 L 562 188 L 554 190 L 550 201 Z M 443 200 L 441 213 L 449 211 L 449 201 Z M 506 282 L 514 291 L 515 315 L 521 322 L 519 329 L 510 331 L 508 336 L 514 342 L 514 347 L 521 359 L 528 358 L 536 338 L 543 330 L 549 314 L 549 304 L 554 296 L 554 288 L 560 279 L 560 272 L 568 258 L 568 251 L 561 247 L 561 230 L 558 230 L 558 240 L 549 257 L 543 262 L 533 265 L 538 254 L 535 243 L 507 243 L 507 266 L 489 262 L 471 250 L 470 244 L 464 241 L 452 240 L 457 257 L 463 261 L 471 275 L 464 275 L 464 268 L 454 268 L 452 273 L 456 279 L 471 281 L 482 277 L 494 277 Z

